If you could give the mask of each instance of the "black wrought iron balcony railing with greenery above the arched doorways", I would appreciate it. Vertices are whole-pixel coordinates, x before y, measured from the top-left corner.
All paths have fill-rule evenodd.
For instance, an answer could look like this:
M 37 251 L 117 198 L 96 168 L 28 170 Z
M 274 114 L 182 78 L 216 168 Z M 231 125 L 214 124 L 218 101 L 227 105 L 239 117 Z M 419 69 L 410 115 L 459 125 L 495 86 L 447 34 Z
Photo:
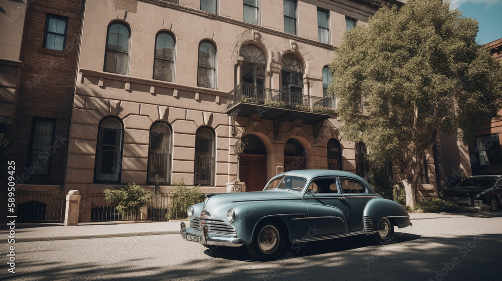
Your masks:
M 313 97 L 298 93 L 240 84 L 228 94 L 228 108 L 243 102 L 300 111 L 335 113 L 333 97 Z

